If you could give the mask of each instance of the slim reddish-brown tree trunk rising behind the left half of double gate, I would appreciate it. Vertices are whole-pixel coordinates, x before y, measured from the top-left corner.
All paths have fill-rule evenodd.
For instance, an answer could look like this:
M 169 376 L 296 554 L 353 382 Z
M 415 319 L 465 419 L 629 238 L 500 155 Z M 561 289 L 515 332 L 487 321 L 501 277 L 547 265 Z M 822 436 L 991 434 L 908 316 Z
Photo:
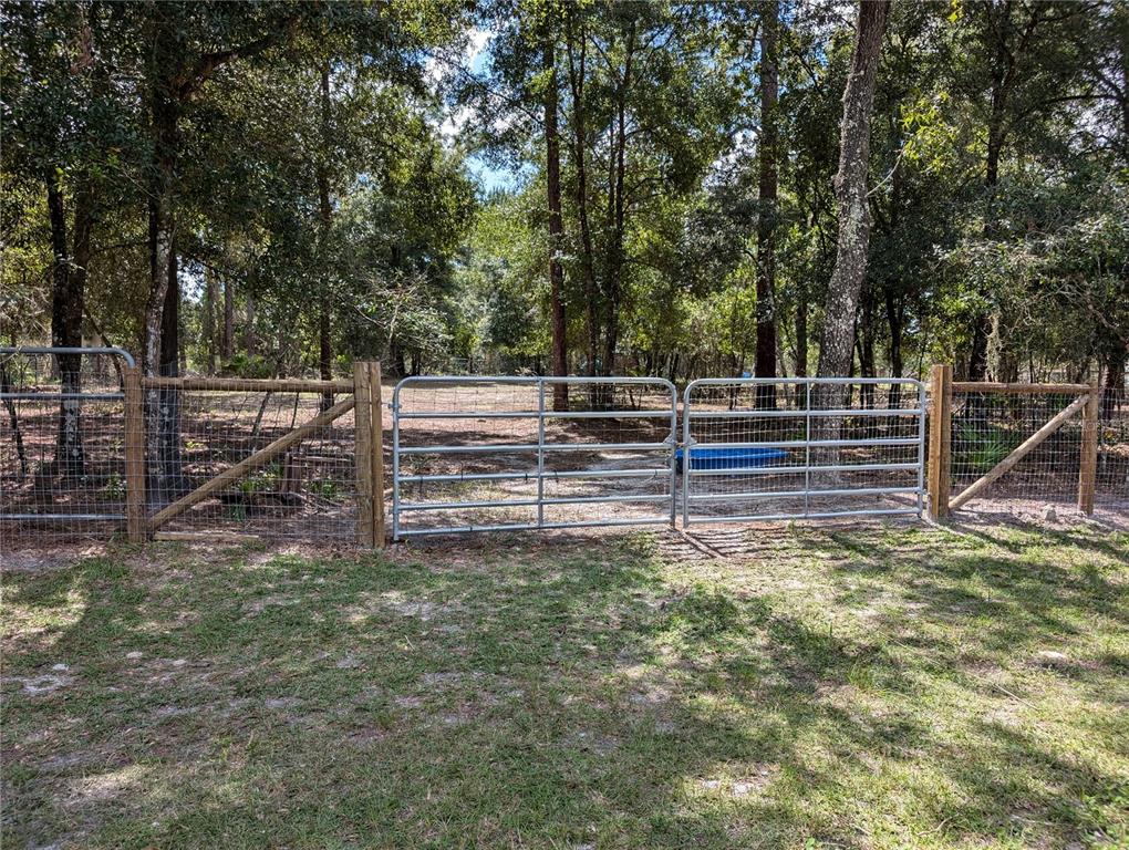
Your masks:
M 562 236 L 564 231 L 561 220 L 561 148 L 557 131 L 558 91 L 557 91 L 557 40 L 546 35 L 544 44 L 544 67 L 549 71 L 549 84 L 545 89 L 545 169 L 549 203 L 549 301 L 552 312 L 552 354 L 553 375 L 568 375 L 568 341 L 566 333 L 568 324 L 564 316 L 564 300 L 561 290 L 564 286 L 564 268 L 561 264 Z M 553 410 L 568 410 L 568 384 L 553 385 Z

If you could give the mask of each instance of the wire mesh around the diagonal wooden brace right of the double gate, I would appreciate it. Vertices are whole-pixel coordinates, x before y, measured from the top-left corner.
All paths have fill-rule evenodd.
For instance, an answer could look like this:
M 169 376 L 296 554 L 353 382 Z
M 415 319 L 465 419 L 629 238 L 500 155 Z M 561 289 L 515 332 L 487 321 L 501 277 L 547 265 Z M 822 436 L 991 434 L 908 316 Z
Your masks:
M 1004 462 L 1025 440 L 1066 410 L 1077 393 L 953 393 L 952 496 Z M 969 505 L 992 509 L 1024 503 L 1069 505 L 1078 498 L 1083 413 L 1064 424 Z

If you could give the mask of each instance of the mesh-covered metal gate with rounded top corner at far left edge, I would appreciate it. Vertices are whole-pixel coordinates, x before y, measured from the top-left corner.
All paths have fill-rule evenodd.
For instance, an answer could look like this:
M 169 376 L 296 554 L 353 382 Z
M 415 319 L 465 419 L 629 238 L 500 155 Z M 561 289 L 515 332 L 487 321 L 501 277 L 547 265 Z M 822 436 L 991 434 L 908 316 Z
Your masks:
M 125 517 L 121 354 L 0 354 L 0 546 L 106 537 Z

